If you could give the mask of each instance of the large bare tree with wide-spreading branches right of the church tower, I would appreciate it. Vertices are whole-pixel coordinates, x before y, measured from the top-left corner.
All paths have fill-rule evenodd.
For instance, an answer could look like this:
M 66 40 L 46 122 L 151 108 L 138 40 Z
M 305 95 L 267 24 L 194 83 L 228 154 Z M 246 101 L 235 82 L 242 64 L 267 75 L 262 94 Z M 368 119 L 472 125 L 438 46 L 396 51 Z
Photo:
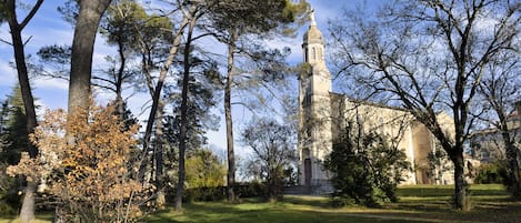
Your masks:
M 332 26 L 340 72 L 400 104 L 437 138 L 454 164 L 454 207 L 465 210 L 463 144 L 485 65 L 519 34 L 521 3 L 395 0 L 379 17 L 345 12 Z M 451 120 L 442 121 L 440 112 Z M 449 125 L 448 122 L 451 122 Z M 448 126 L 451 131 L 445 131 Z M 452 131 L 453 130 L 453 131 Z

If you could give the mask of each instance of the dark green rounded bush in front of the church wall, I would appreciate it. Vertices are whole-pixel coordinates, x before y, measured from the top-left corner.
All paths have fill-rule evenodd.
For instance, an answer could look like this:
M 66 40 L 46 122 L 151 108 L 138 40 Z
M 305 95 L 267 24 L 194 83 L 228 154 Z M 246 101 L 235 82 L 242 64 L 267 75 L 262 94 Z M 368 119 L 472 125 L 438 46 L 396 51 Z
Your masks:
M 397 185 L 409 169 L 405 154 L 374 132 L 358 134 L 347 128 L 324 166 L 333 172 L 333 205 L 379 205 L 397 201 Z M 360 131 L 359 131 L 360 132 Z

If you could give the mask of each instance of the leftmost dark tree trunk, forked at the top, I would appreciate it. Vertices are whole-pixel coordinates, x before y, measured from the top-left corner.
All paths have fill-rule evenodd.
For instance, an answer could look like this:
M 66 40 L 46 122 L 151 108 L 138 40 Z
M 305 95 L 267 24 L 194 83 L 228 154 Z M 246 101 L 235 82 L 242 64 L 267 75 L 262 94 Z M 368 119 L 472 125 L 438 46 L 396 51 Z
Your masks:
M 18 23 L 17 19 L 17 10 L 16 10 L 16 1 L 8 0 L 6 1 L 6 7 L 8 11 L 8 23 L 11 32 L 11 40 L 12 47 L 14 50 L 14 61 L 17 64 L 17 72 L 18 72 L 18 82 L 20 84 L 20 91 L 22 94 L 23 100 L 23 108 L 26 111 L 27 116 L 27 132 L 29 134 L 34 132 L 34 128 L 37 126 L 37 114 L 34 109 L 34 99 L 31 92 L 31 84 L 29 82 L 29 75 L 26 64 L 26 52 L 24 45 L 21 37 L 21 32 L 27 23 L 32 19 L 34 13 L 40 8 L 43 0 L 39 0 L 34 7 L 31 9 L 27 18 L 22 21 L 22 23 Z M 36 158 L 38 155 L 38 149 L 30 143 L 29 148 L 27 149 L 29 155 L 31 158 Z M 20 210 L 20 220 L 21 222 L 31 222 L 34 220 L 34 201 L 36 201 L 36 190 L 37 183 L 36 182 L 27 182 L 27 186 L 24 189 L 24 196 L 22 207 Z

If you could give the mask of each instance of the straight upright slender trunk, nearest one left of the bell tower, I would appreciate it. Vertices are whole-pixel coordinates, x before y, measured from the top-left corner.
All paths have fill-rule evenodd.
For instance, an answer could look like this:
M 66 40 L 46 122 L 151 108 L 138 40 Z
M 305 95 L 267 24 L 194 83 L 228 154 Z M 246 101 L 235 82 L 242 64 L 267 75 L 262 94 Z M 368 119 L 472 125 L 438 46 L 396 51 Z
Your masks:
M 237 32 L 230 32 L 230 42 L 228 43 L 228 77 L 224 87 L 224 116 L 227 122 L 227 149 L 228 149 L 228 174 L 227 193 L 228 202 L 234 202 L 236 193 L 236 155 L 233 151 L 233 122 L 231 116 L 231 85 L 233 83 L 233 59 L 236 51 Z

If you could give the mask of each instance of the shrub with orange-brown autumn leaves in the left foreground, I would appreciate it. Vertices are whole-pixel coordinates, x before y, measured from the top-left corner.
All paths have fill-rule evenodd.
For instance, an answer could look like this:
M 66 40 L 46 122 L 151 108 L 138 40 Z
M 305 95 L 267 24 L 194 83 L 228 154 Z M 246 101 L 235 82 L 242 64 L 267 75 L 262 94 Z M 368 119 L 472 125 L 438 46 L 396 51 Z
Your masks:
M 138 126 L 124 130 L 112 108 L 90 108 L 69 116 L 47 112 L 30 136 L 39 155 L 22 153 L 8 174 L 44 181 L 40 187 L 58 203 L 57 217 L 64 222 L 133 222 L 150 192 L 132 178 Z

